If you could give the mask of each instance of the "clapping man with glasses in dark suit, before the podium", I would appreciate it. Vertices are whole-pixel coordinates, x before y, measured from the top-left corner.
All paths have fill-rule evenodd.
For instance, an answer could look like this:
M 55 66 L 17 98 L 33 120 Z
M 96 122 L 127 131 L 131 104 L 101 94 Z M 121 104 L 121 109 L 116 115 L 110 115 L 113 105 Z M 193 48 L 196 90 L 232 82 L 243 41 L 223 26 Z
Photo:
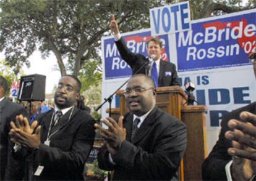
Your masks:
M 105 139 L 98 153 L 101 169 L 114 170 L 114 180 L 177 180 L 186 148 L 186 126 L 156 106 L 153 79 L 135 74 L 124 91 L 130 110 L 119 118 L 95 124 Z

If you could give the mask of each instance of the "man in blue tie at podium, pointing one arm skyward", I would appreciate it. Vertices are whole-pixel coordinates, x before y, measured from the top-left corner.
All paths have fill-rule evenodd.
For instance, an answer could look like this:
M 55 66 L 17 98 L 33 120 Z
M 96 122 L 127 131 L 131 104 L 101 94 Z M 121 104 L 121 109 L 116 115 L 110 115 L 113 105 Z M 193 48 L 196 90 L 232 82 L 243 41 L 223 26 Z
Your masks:
M 151 76 L 156 87 L 180 86 L 177 76 L 176 66 L 171 62 L 161 59 L 162 42 L 158 38 L 148 41 L 148 57 L 141 54 L 132 53 L 121 38 L 117 22 L 114 15 L 111 15 L 109 23 L 114 40 L 122 59 L 132 68 L 132 74 L 143 73 Z

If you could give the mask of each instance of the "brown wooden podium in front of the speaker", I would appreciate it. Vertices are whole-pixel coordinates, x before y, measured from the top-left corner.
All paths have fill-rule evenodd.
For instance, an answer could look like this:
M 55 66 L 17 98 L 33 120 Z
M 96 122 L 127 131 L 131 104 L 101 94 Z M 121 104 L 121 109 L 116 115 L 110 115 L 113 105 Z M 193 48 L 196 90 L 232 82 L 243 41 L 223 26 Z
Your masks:
M 116 92 L 119 96 L 120 108 L 111 109 L 113 117 L 118 118 L 129 111 L 123 93 L 123 90 Z M 207 108 L 202 105 L 187 106 L 187 94 L 179 86 L 158 87 L 156 93 L 156 105 L 187 126 L 187 149 L 181 163 L 179 180 L 202 180 L 201 167 L 207 156 L 205 126 Z

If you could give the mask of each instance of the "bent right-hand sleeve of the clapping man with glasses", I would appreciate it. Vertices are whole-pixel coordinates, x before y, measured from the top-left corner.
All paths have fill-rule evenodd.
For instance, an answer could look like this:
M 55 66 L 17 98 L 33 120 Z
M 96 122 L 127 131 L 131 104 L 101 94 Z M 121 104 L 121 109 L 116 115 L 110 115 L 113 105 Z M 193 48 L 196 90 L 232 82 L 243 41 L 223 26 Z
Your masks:
M 186 143 L 186 126 L 176 121 L 161 132 L 153 153 L 125 140 L 113 160 L 116 166 L 143 174 L 146 180 L 170 180 L 181 163 Z

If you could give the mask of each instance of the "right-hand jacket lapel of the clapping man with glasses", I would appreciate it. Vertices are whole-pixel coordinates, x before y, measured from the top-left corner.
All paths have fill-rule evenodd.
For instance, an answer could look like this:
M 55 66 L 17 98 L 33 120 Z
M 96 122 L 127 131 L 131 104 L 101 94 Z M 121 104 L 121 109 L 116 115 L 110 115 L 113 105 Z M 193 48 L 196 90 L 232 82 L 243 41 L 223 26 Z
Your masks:
M 151 125 L 154 124 L 156 119 L 161 115 L 161 113 L 158 110 L 159 110 L 158 107 L 153 108 L 151 113 L 143 121 L 142 125 L 137 131 L 137 134 L 135 134 L 135 137 L 132 143 L 135 144 L 140 142 L 140 140 L 143 139 L 143 137 L 145 137 L 145 135 L 150 131 Z

